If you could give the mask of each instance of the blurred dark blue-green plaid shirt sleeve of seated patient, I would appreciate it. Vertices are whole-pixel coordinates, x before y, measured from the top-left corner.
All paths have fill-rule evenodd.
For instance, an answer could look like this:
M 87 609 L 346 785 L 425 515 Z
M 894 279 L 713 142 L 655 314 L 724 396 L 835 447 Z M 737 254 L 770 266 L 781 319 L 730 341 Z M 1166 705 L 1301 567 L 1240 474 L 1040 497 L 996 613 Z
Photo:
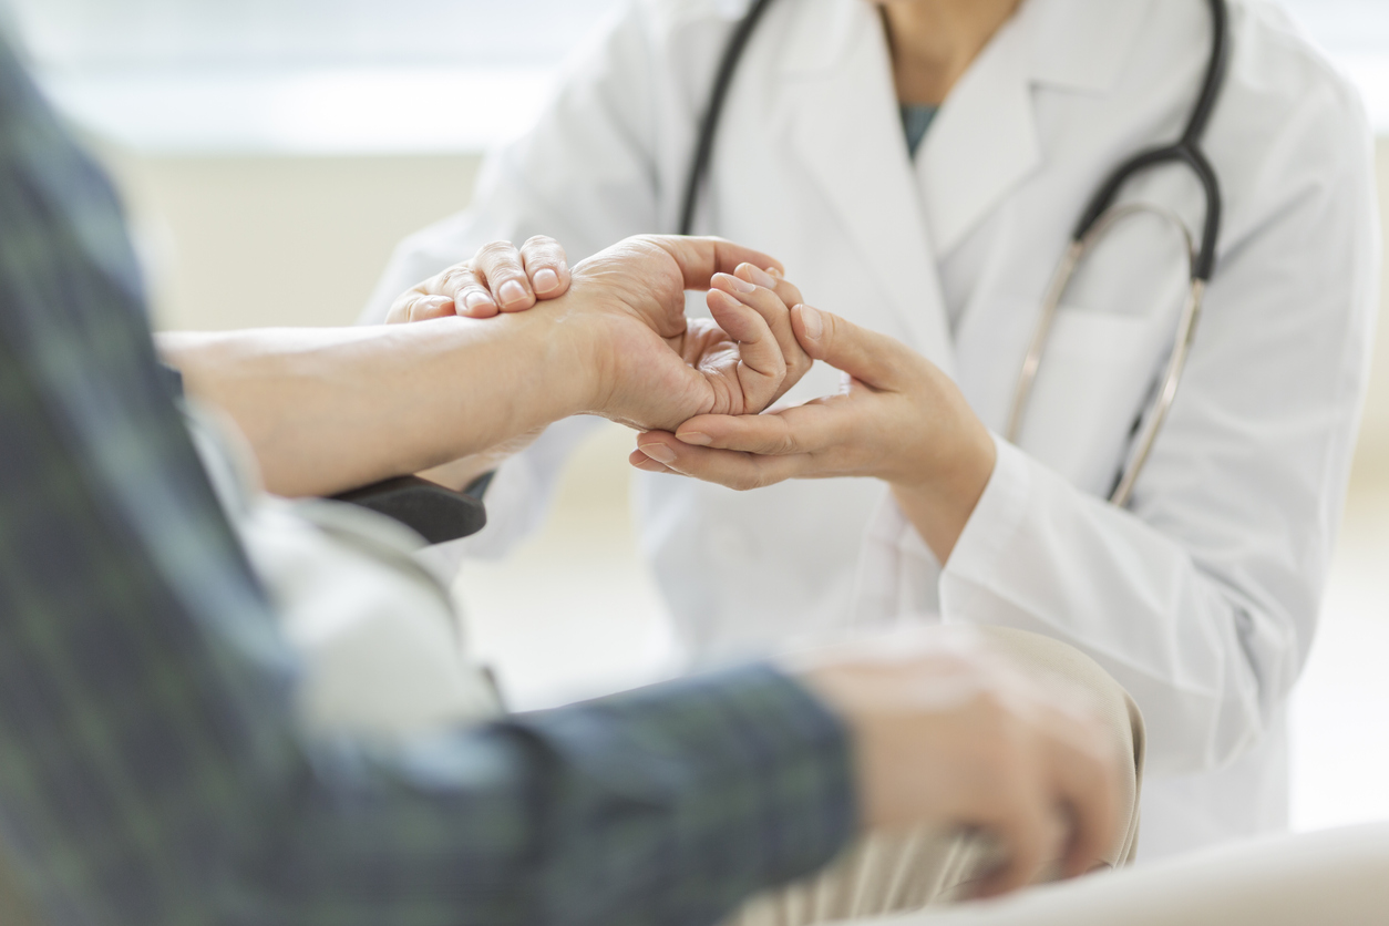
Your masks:
M 119 208 L 0 50 L 0 865 L 49 923 L 710 923 L 854 826 L 765 666 L 315 741 L 157 372 Z

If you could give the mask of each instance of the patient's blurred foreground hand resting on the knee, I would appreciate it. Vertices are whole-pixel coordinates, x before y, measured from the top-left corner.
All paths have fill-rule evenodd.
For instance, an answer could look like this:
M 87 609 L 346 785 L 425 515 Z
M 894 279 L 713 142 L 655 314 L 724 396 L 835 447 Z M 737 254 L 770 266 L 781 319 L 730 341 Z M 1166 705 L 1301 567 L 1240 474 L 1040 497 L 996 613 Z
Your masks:
M 1024 675 L 964 629 L 892 633 L 788 668 L 849 726 L 868 829 L 981 830 L 1003 866 L 985 895 L 1117 843 L 1121 765 L 1085 691 Z

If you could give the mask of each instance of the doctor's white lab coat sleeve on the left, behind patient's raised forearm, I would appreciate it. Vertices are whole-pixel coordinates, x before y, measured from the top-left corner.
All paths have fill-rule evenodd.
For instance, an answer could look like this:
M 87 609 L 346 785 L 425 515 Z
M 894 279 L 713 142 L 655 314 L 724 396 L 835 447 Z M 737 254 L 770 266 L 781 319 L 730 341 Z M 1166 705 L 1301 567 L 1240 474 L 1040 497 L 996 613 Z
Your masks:
M 668 137 L 660 121 L 693 124 L 693 104 L 660 78 L 669 69 L 657 74 L 653 65 L 664 32 L 653 7 L 626 4 L 563 69 L 536 125 L 488 158 L 471 208 L 400 244 L 363 323 L 381 323 L 400 293 L 488 242 L 521 244 L 547 235 L 578 262 L 631 235 L 669 230 L 661 189 L 678 172 L 672 146 L 688 142 Z M 504 464 L 488 491 L 488 529 L 432 553 L 435 565 L 454 569 L 464 555 L 501 555 L 524 539 L 543 519 L 565 461 L 590 426 L 592 419 L 561 422 Z

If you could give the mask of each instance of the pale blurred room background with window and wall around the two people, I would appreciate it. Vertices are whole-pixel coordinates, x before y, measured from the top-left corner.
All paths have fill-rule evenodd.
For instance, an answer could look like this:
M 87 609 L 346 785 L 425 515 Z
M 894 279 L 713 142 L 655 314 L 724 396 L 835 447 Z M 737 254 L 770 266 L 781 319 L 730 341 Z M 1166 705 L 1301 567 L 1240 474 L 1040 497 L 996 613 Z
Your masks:
M 1165 0 L 1164 0 L 1165 1 Z M 614 0 L 10 0 L 40 82 L 126 197 L 161 328 L 351 323 L 392 247 L 467 205 Z M 1283 4 L 1361 90 L 1389 192 L 1389 1 Z M 1389 221 L 1389 194 L 1381 193 Z M 1386 298 L 1389 311 L 1389 298 Z M 628 432 L 544 529 L 457 586 L 518 708 L 672 665 Z M 1389 323 L 1322 630 L 1293 704 L 1299 829 L 1389 818 Z

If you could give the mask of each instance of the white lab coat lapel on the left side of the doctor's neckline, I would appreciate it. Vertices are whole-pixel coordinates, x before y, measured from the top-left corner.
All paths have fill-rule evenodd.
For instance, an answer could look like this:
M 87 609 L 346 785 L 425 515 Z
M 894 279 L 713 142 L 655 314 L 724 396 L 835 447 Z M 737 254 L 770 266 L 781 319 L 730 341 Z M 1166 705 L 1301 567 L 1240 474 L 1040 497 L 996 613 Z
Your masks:
M 907 157 L 886 39 L 861 0 L 801 0 L 785 60 L 795 154 L 874 268 L 913 346 L 947 375 L 954 353 L 935 249 Z

